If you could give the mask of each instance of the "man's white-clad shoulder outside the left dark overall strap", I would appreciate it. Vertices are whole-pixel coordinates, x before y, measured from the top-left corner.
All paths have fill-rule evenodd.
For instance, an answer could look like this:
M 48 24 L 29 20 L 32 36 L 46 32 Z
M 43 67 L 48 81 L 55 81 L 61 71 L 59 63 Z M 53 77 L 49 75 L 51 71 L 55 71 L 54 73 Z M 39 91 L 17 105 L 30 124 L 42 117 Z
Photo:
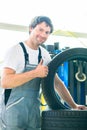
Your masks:
M 17 72 L 24 67 L 24 54 L 20 44 L 13 45 L 7 50 L 3 67 L 12 68 Z

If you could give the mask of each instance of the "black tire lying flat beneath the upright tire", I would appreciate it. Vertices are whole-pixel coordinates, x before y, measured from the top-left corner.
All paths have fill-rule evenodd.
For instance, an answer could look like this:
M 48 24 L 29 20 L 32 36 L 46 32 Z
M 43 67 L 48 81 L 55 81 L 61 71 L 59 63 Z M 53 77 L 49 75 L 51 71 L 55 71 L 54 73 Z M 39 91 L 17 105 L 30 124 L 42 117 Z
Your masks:
M 41 130 L 87 130 L 87 111 L 43 111 L 41 121 Z

